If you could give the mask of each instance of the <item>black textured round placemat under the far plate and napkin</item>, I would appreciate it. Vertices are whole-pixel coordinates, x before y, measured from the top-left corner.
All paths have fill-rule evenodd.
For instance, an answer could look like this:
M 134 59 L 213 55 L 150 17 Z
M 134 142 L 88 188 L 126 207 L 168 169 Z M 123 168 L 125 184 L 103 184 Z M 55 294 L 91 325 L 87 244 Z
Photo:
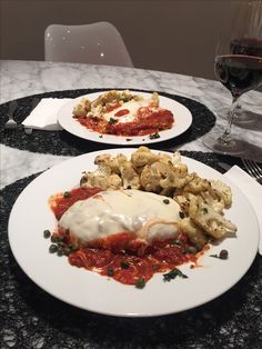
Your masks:
M 32 108 L 33 98 L 77 98 L 79 96 L 110 90 L 108 89 L 81 89 L 81 90 L 66 90 L 46 92 L 33 94 L 24 98 L 17 99 L 18 109 L 14 112 L 14 119 L 21 123 L 30 113 Z M 133 90 L 133 89 L 130 89 Z M 138 90 L 141 92 L 152 92 Z M 189 130 L 183 134 L 163 142 L 152 143 L 151 148 L 174 148 L 183 142 L 190 142 L 206 133 L 215 123 L 215 116 L 202 103 L 181 96 L 159 92 L 161 96 L 171 98 L 184 104 L 192 113 L 193 122 Z M 105 148 L 119 148 L 117 146 L 88 141 L 71 134 L 70 132 L 62 131 L 41 131 L 33 130 L 31 134 L 26 134 L 22 128 L 16 131 L 3 130 L 3 124 L 7 121 L 7 114 L 10 102 L 1 104 L 0 109 L 0 136 L 1 143 L 17 148 L 20 150 L 29 150 L 33 152 L 51 153 L 59 156 L 77 156 L 93 150 Z

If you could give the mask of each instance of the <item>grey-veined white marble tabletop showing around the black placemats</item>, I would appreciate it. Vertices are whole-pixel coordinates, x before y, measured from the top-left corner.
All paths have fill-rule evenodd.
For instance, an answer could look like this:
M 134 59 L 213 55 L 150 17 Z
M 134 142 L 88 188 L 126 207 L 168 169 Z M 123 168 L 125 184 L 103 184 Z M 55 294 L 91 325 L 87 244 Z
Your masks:
M 1 103 L 30 94 L 68 89 L 121 87 L 158 90 L 192 98 L 205 104 L 218 116 L 215 129 L 220 132 L 225 127 L 224 108 L 231 103 L 230 92 L 220 82 L 189 76 L 80 63 L 40 61 L 1 61 L 0 63 Z M 260 114 L 256 117 L 260 119 L 256 120 L 255 126 L 253 123 L 234 124 L 233 132 L 243 137 L 260 151 L 262 148 L 262 94 L 251 91 L 241 97 L 241 100 L 243 107 Z M 64 159 L 63 157 L 28 153 L 2 144 L 0 147 L 3 173 L 1 188 Z M 210 151 L 203 146 L 201 138 L 181 144 L 179 149 Z

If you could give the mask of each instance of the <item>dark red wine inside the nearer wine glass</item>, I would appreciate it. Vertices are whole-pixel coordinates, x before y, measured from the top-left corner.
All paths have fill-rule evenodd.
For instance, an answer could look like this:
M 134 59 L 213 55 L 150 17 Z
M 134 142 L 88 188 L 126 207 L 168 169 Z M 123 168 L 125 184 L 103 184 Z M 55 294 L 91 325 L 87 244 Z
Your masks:
M 214 72 L 231 93 L 239 97 L 262 83 L 262 57 L 218 56 Z

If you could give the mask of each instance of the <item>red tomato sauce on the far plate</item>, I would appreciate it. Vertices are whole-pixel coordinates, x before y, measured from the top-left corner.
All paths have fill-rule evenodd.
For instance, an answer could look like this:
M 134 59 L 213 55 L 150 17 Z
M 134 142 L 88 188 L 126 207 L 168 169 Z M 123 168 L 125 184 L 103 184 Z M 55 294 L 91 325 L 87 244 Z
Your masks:
M 129 112 L 128 109 L 120 110 L 115 117 L 122 117 Z M 174 124 L 174 118 L 170 110 L 160 109 L 151 111 L 149 107 L 142 107 L 138 110 L 134 121 L 119 122 L 118 119 L 105 121 L 93 117 L 78 117 L 78 122 L 87 129 L 101 134 L 114 136 L 147 136 L 159 131 L 171 129 Z

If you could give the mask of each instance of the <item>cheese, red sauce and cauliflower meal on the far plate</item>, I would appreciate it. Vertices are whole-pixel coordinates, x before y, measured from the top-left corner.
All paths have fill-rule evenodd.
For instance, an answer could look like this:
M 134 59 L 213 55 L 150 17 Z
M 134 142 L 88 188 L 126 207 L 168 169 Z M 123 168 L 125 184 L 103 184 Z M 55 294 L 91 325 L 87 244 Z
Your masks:
M 160 131 L 174 124 L 172 112 L 161 108 L 157 92 L 144 98 L 129 90 L 111 90 L 93 101 L 83 97 L 73 108 L 73 118 L 100 134 L 124 137 L 150 134 L 157 138 Z

